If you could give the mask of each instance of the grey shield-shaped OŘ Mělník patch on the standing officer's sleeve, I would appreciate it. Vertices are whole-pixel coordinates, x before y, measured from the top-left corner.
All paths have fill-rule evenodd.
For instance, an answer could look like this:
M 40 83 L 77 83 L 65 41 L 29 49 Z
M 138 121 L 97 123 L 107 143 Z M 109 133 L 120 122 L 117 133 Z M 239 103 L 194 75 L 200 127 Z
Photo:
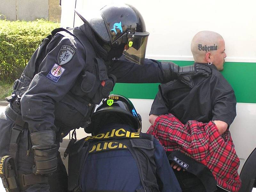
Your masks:
M 62 45 L 58 54 L 59 65 L 64 65 L 65 63 L 70 61 L 74 56 L 75 52 L 76 51 L 71 46 Z

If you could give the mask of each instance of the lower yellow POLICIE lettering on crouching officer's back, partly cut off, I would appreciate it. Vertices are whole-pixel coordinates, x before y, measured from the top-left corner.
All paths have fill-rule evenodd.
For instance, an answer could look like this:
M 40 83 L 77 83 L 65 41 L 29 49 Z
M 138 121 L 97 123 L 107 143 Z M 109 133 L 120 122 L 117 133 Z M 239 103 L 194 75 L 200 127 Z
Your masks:
M 104 142 L 104 143 L 98 143 L 92 146 L 91 150 L 89 153 L 97 153 L 100 151 L 108 151 L 108 150 L 113 150 L 113 149 L 126 149 L 127 147 L 118 142 Z

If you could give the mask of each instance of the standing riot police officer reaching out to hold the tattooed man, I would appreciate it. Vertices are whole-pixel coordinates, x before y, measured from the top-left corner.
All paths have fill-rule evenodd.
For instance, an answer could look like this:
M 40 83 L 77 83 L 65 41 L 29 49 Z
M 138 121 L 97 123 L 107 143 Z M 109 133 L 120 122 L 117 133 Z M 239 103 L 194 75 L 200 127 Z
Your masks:
M 0 175 L 9 191 L 67 190 L 59 143 L 70 130 L 86 125 L 94 104 L 107 98 L 116 82 L 179 78 L 193 86 L 193 75 L 211 73 L 204 66 L 144 60 L 148 32 L 130 5 L 105 6 L 93 18 L 76 13 L 84 25 L 55 29 L 43 40 L 0 114 L 0 156 L 10 155 L 8 162 L 16 164 L 14 178 Z

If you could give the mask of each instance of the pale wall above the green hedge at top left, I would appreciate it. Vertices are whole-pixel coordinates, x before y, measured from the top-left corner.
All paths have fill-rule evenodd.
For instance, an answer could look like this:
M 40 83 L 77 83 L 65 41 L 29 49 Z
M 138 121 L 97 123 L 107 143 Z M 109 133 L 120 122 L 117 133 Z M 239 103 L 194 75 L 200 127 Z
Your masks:
M 60 22 L 59 0 L 0 0 L 1 19 L 36 20 Z

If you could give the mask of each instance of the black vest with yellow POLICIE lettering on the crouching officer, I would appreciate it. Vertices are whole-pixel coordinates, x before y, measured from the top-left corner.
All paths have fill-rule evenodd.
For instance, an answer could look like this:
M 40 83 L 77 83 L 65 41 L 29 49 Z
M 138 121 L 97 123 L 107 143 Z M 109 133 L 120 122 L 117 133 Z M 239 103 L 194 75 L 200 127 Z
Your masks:
M 156 181 L 156 164 L 154 160 L 153 135 L 146 133 L 118 134 L 114 129 L 107 133 L 89 136 L 69 146 L 68 156 L 68 190 L 80 192 L 84 163 L 90 153 L 126 148 L 134 157 L 139 170 L 143 189 L 136 192 L 159 192 Z M 99 147 L 101 145 L 101 147 Z

